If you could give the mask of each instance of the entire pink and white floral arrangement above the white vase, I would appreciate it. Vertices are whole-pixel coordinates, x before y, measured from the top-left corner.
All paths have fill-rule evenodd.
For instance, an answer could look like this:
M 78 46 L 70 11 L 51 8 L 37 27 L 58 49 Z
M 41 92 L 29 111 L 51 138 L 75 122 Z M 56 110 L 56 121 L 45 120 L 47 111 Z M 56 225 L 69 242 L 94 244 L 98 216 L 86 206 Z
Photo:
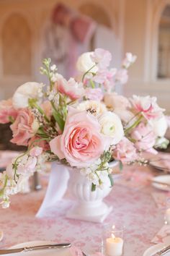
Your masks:
M 166 147 L 164 109 L 156 98 L 128 99 L 115 93 L 116 86 L 128 81 L 136 56 L 126 54 L 120 69 L 109 69 L 111 59 L 102 48 L 82 54 L 77 77 L 68 81 L 45 59 L 40 72 L 48 76 L 49 85 L 26 82 L 11 99 L 1 101 L 0 123 L 10 122 L 11 141 L 27 147 L 0 174 L 3 208 L 46 161 L 76 168 L 94 191 L 103 188 L 104 176 L 112 186 L 110 161 L 145 164 L 141 153 Z

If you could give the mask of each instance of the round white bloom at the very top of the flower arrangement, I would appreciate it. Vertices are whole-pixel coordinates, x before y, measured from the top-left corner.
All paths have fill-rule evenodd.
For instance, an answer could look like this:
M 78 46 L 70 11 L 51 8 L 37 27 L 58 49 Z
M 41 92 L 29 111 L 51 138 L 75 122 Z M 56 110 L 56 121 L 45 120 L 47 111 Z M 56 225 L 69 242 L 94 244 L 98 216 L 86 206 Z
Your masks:
M 78 69 L 79 72 L 85 73 L 95 65 L 95 62 L 93 62 L 91 59 L 92 53 L 93 51 L 89 51 L 79 56 L 79 59 L 77 60 L 77 63 L 76 63 L 76 69 Z M 97 70 L 98 70 L 98 67 L 95 66 L 90 70 L 90 72 L 96 73 Z

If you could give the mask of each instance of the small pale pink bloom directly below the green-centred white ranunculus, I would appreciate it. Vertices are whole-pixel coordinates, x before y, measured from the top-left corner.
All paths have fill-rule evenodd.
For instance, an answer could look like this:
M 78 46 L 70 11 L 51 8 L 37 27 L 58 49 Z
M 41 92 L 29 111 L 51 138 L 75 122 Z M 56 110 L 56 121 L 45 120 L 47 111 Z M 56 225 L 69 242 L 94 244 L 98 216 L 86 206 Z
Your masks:
M 113 151 L 113 158 L 121 161 L 122 163 L 128 163 L 130 161 L 135 161 L 138 158 L 135 146 L 130 140 L 124 137 L 117 145 Z

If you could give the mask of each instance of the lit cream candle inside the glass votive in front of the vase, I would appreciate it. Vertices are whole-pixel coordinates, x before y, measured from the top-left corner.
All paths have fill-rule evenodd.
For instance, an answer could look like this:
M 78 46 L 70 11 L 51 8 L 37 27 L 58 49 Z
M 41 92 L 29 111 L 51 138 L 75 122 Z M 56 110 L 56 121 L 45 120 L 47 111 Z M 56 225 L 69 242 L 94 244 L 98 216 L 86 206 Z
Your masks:
M 109 256 L 121 256 L 122 255 L 123 240 L 120 237 L 115 237 L 112 234 L 112 237 L 107 238 L 106 240 L 106 252 Z

